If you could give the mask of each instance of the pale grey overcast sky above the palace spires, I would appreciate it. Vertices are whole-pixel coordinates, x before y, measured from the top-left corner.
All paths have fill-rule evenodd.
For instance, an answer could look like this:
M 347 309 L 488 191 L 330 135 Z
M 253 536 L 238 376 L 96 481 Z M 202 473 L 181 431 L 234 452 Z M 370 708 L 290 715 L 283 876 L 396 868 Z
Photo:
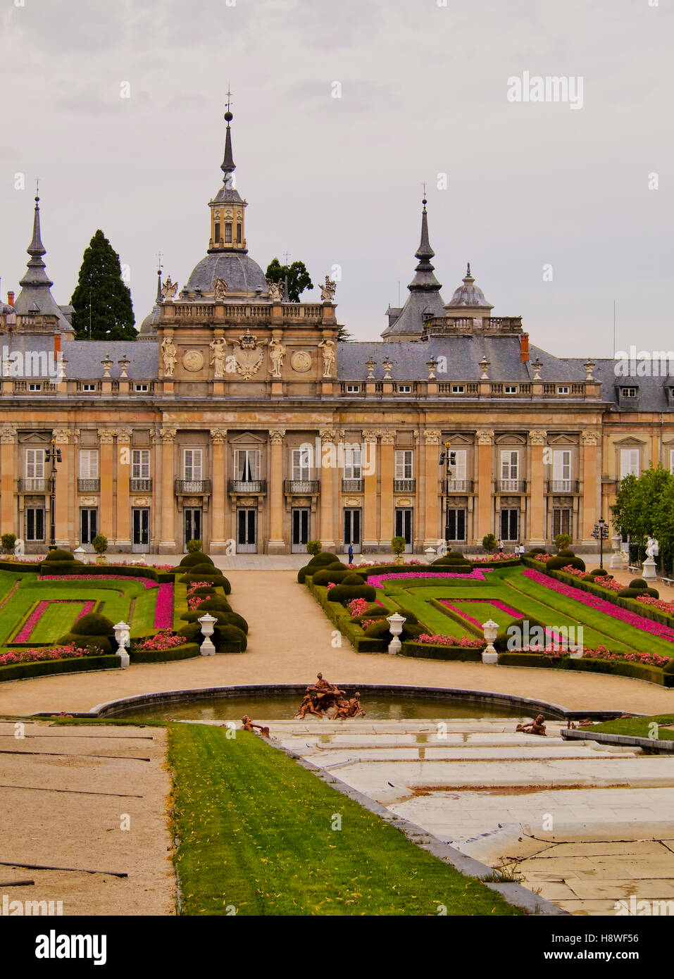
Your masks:
M 208 248 L 230 85 L 249 253 L 302 258 L 314 283 L 341 266 L 357 339 L 407 296 L 425 180 L 445 302 L 469 260 L 494 314 L 558 355 L 610 356 L 614 300 L 618 348 L 673 347 L 672 3 L 444 2 L 0 0 L 3 293 L 35 176 L 58 303 L 97 228 L 137 326 L 159 250 L 182 287 Z M 582 108 L 508 101 L 525 71 L 582 78 Z

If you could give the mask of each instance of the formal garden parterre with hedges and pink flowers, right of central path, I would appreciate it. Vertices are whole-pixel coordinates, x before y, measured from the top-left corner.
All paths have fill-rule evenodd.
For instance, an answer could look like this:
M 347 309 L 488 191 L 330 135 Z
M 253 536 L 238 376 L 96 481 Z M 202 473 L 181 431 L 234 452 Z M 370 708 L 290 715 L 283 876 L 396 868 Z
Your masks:
M 466 558 L 430 565 L 346 566 L 317 552 L 298 581 L 360 653 L 388 650 L 387 617 L 405 618 L 404 656 L 479 662 L 483 624 L 498 624 L 503 666 L 612 673 L 674 686 L 674 602 L 642 579 L 629 587 L 586 571 L 573 551 Z

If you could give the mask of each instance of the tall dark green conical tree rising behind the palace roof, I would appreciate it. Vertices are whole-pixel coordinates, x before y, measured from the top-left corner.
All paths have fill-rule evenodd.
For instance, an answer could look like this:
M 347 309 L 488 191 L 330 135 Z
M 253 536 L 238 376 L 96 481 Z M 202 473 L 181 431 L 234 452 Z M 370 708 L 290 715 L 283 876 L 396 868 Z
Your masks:
M 82 257 L 72 293 L 77 340 L 135 340 L 133 305 L 121 278 L 120 256 L 99 229 Z

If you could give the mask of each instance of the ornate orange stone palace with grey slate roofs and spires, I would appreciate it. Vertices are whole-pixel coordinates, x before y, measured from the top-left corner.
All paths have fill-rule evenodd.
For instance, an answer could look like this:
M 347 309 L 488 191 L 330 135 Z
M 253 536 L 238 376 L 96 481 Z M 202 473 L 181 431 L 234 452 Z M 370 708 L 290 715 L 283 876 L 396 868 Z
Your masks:
M 3 534 L 44 553 L 53 516 L 57 545 L 90 550 L 103 534 L 113 552 L 196 537 L 212 554 L 313 538 L 367 553 L 394 535 L 423 552 L 560 532 L 589 550 L 627 473 L 674 469 L 674 377 L 530 345 L 469 265 L 446 303 L 425 200 L 406 303 L 380 342 L 339 342 L 334 283 L 289 302 L 248 254 L 231 118 L 207 254 L 179 293 L 160 275 L 135 343 L 72 339 L 36 199 L 21 292 L 0 303 Z

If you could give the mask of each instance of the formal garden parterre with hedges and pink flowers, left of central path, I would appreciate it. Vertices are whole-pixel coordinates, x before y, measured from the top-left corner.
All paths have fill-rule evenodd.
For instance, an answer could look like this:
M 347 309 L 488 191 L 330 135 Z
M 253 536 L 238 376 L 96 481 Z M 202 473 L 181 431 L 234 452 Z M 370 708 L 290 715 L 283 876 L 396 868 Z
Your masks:
M 0 681 L 120 669 L 119 623 L 128 626 L 131 665 L 199 656 L 207 612 L 217 653 L 245 652 L 248 623 L 195 543 L 176 567 L 90 565 L 58 549 L 0 561 Z

